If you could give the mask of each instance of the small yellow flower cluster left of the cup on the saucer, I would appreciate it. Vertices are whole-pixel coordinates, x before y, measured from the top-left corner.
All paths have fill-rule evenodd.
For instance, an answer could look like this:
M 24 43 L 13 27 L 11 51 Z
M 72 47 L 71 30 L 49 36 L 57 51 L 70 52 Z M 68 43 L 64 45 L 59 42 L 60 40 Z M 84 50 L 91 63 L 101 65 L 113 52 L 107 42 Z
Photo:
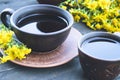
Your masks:
M 1 24 L 0 52 L 3 54 L 3 57 L 0 57 L 0 63 L 5 63 L 9 60 L 22 60 L 26 58 L 26 55 L 31 52 L 31 49 L 15 39 L 14 32 Z

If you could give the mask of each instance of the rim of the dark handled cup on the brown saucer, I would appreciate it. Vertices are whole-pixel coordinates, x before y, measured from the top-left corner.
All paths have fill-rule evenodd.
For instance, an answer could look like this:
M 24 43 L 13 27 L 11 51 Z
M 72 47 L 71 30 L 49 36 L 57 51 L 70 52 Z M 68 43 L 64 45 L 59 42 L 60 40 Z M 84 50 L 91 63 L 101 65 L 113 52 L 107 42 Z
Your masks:
M 32 7 L 47 7 L 47 8 L 55 8 L 55 9 L 59 9 L 61 11 L 64 11 L 64 13 L 68 14 L 69 15 L 69 18 L 71 19 L 70 23 L 67 25 L 67 27 L 59 30 L 59 31 L 55 31 L 55 32 L 50 32 L 50 33 L 42 33 L 42 34 L 35 34 L 35 33 L 28 33 L 26 31 L 23 31 L 21 29 L 19 29 L 17 27 L 17 25 L 13 22 L 14 20 L 14 16 L 19 13 L 20 11 L 22 10 L 25 10 L 26 8 L 32 8 Z M 21 7 L 19 9 L 17 9 L 12 15 L 11 15 L 11 18 L 10 18 L 10 22 L 11 22 L 11 25 L 12 27 L 14 27 L 15 29 L 21 31 L 21 32 L 24 32 L 24 33 L 27 33 L 27 34 L 32 34 L 32 35 L 43 35 L 43 36 L 48 36 L 48 35 L 56 35 L 56 34 L 59 34 L 59 33 L 62 33 L 64 31 L 67 31 L 68 29 L 70 29 L 74 23 L 74 19 L 73 19 L 73 16 L 72 14 L 70 14 L 68 11 L 62 9 L 62 8 L 59 8 L 57 6 L 54 6 L 54 5 L 50 5 L 50 4 L 34 4 L 34 5 L 28 5 L 28 6 L 24 6 L 24 7 Z

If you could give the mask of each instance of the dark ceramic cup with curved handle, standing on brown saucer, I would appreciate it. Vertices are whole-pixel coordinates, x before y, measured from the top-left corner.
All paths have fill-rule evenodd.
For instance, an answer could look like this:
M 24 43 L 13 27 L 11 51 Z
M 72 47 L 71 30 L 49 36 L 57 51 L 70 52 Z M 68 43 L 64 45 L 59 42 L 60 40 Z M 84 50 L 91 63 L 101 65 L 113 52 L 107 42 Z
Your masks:
M 1 12 L 1 21 L 6 27 L 12 28 L 19 41 L 37 52 L 51 51 L 60 46 L 66 40 L 74 22 L 68 11 L 48 4 L 29 5 L 16 11 L 7 8 Z M 34 22 L 36 24 L 27 29 L 21 28 Z M 62 23 L 65 25 L 60 26 Z

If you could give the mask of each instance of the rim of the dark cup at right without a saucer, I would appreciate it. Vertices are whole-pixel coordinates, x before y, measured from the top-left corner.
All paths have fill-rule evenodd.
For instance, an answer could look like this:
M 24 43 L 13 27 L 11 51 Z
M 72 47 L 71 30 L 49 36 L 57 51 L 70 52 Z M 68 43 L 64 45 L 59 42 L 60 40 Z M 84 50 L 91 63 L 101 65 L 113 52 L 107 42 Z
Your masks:
M 107 35 L 107 36 L 112 36 L 112 37 L 116 37 L 116 38 L 120 39 L 120 37 L 118 35 L 108 33 L 108 32 L 103 32 L 103 31 L 95 31 L 95 32 L 87 33 L 87 34 L 83 35 L 81 37 L 81 39 L 78 41 L 78 49 L 82 52 L 82 54 L 90 57 L 91 59 L 95 59 L 95 60 L 99 60 L 99 61 L 106 61 L 106 62 L 120 61 L 120 58 L 119 59 L 111 59 L 111 60 L 110 59 L 96 58 L 96 57 L 94 57 L 92 55 L 87 54 L 87 52 L 81 48 L 81 45 L 84 42 L 84 38 L 87 38 L 87 39 L 92 38 L 92 37 L 88 37 L 88 36 L 91 36 L 91 35 L 94 35 L 94 34 L 96 34 L 94 37 L 97 37 L 98 35 L 103 35 L 103 36 Z

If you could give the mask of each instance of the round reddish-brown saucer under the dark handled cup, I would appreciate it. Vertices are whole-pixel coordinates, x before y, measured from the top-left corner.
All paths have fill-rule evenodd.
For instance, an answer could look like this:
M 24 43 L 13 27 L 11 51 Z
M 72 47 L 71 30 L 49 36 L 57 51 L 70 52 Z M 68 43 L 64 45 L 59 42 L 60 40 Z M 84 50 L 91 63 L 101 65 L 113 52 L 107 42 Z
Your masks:
M 65 64 L 78 56 L 77 42 L 81 36 L 75 28 L 72 28 L 65 42 L 55 50 L 32 52 L 22 61 L 14 60 L 11 62 L 33 68 L 48 68 Z

